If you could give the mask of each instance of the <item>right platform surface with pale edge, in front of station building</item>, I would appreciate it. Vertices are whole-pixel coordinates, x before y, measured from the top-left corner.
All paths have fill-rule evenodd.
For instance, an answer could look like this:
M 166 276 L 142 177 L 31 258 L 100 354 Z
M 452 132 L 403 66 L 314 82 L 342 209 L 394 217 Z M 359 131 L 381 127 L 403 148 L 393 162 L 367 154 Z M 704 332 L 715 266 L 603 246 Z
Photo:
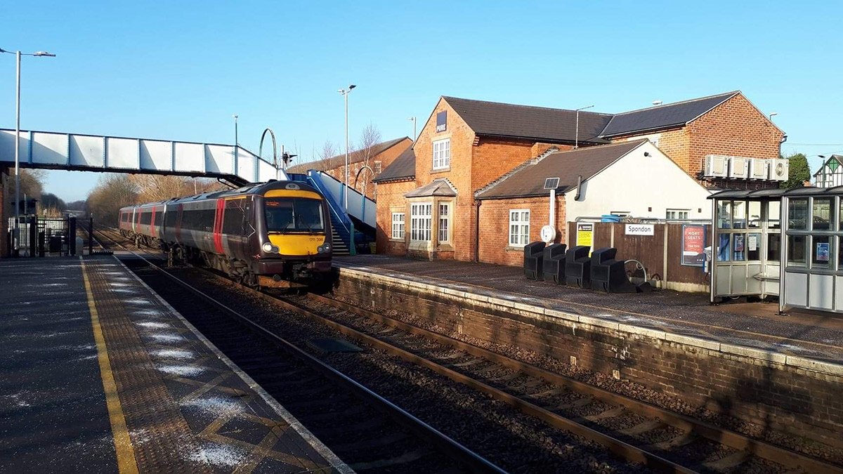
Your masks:
M 776 315 L 777 303 L 711 305 L 708 294 L 654 290 L 606 294 L 524 277 L 521 267 L 465 261 L 421 261 L 384 255 L 339 256 L 334 266 L 372 272 L 419 285 L 507 300 L 705 342 L 749 347 L 791 357 L 794 363 L 843 369 L 843 315 L 792 311 Z M 806 358 L 802 361 L 797 358 Z M 827 368 L 824 368 L 827 369 Z

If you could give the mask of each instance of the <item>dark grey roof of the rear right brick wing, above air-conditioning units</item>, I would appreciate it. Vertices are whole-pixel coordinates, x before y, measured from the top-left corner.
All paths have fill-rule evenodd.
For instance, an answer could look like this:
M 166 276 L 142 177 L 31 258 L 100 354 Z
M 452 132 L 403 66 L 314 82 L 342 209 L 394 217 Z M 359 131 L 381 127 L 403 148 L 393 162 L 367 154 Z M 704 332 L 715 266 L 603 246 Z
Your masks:
M 656 131 L 685 125 L 737 94 L 740 94 L 740 91 L 736 90 L 726 94 L 710 95 L 700 99 L 684 100 L 615 114 L 603 132 L 599 132 L 599 136 L 615 137 L 632 132 Z M 582 119 L 583 116 L 581 115 L 580 120 Z

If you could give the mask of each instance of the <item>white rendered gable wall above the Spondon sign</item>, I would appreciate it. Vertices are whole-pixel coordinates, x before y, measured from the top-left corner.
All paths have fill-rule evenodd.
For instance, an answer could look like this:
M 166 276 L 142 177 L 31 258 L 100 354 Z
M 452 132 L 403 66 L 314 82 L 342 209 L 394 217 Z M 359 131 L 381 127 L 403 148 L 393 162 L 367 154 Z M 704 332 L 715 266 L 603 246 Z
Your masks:
M 663 219 L 668 209 L 688 209 L 688 218 L 711 220 L 709 191 L 649 142 L 584 180 L 579 201 L 576 195 L 576 190 L 565 193 L 569 222 L 613 212 Z

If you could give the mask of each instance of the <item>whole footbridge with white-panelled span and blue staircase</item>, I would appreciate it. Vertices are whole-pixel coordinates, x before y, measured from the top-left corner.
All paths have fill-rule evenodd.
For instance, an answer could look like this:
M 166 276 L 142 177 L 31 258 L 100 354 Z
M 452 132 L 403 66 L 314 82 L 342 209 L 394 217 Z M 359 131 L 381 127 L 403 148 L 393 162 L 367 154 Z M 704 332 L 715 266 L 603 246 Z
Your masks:
M 0 165 L 14 163 L 14 133 L 0 128 Z M 341 181 L 315 170 L 307 175 L 287 175 L 280 164 L 270 163 L 239 146 L 22 130 L 18 147 L 22 168 L 220 178 L 237 186 L 267 180 L 303 180 L 328 200 L 340 253 L 345 250 L 353 254 L 357 247 L 364 249 L 374 241 L 374 201 L 348 188 L 346 206 L 346 186 Z

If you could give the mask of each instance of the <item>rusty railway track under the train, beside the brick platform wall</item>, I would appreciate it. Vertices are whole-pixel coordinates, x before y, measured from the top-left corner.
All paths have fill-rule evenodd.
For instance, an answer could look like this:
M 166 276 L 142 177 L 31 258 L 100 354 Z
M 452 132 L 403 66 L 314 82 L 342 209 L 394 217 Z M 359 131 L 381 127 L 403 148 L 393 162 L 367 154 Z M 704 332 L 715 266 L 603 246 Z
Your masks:
M 228 284 L 231 284 L 230 282 Z M 604 391 L 373 311 L 309 294 L 277 299 L 344 337 L 448 377 L 507 403 L 548 427 L 588 439 L 626 461 L 659 471 L 839 472 L 791 450 Z

